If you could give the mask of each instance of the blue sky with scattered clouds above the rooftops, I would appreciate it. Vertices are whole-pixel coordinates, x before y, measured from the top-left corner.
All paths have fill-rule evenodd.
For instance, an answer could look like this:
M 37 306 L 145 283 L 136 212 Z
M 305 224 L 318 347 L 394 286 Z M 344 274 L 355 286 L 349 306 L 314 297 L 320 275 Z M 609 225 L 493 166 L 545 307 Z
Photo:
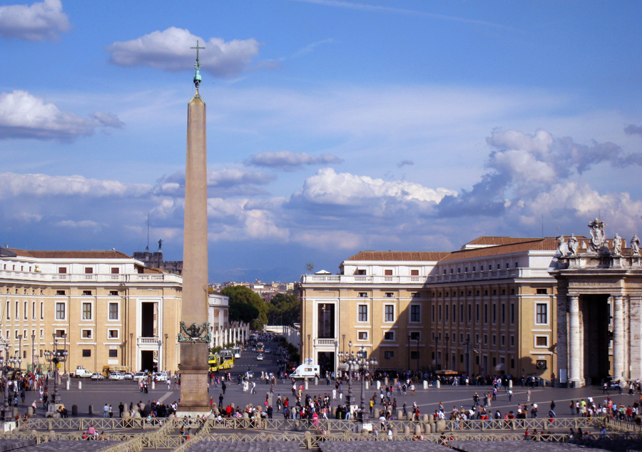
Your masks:
M 628 239 L 638 1 L 0 1 L 0 242 L 180 260 L 197 39 L 210 279 L 480 235 Z

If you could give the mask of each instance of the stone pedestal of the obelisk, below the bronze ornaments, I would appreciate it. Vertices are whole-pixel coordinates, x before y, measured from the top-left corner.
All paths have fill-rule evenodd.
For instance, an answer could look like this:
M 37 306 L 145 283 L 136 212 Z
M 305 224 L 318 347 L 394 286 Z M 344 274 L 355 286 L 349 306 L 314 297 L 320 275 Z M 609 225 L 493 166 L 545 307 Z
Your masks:
M 180 344 L 180 404 L 176 416 L 210 414 L 208 401 L 208 344 L 183 342 Z M 195 363 L 195 364 L 183 364 Z

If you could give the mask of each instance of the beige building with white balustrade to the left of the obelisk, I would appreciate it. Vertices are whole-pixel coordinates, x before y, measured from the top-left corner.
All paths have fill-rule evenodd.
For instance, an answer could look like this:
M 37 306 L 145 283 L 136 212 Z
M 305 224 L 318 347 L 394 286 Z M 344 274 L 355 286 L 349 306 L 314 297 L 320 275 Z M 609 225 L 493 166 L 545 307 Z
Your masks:
M 175 370 L 181 289 L 180 276 L 117 251 L 0 248 L 0 337 L 22 369 L 49 368 L 55 334 L 69 351 L 63 371 Z

